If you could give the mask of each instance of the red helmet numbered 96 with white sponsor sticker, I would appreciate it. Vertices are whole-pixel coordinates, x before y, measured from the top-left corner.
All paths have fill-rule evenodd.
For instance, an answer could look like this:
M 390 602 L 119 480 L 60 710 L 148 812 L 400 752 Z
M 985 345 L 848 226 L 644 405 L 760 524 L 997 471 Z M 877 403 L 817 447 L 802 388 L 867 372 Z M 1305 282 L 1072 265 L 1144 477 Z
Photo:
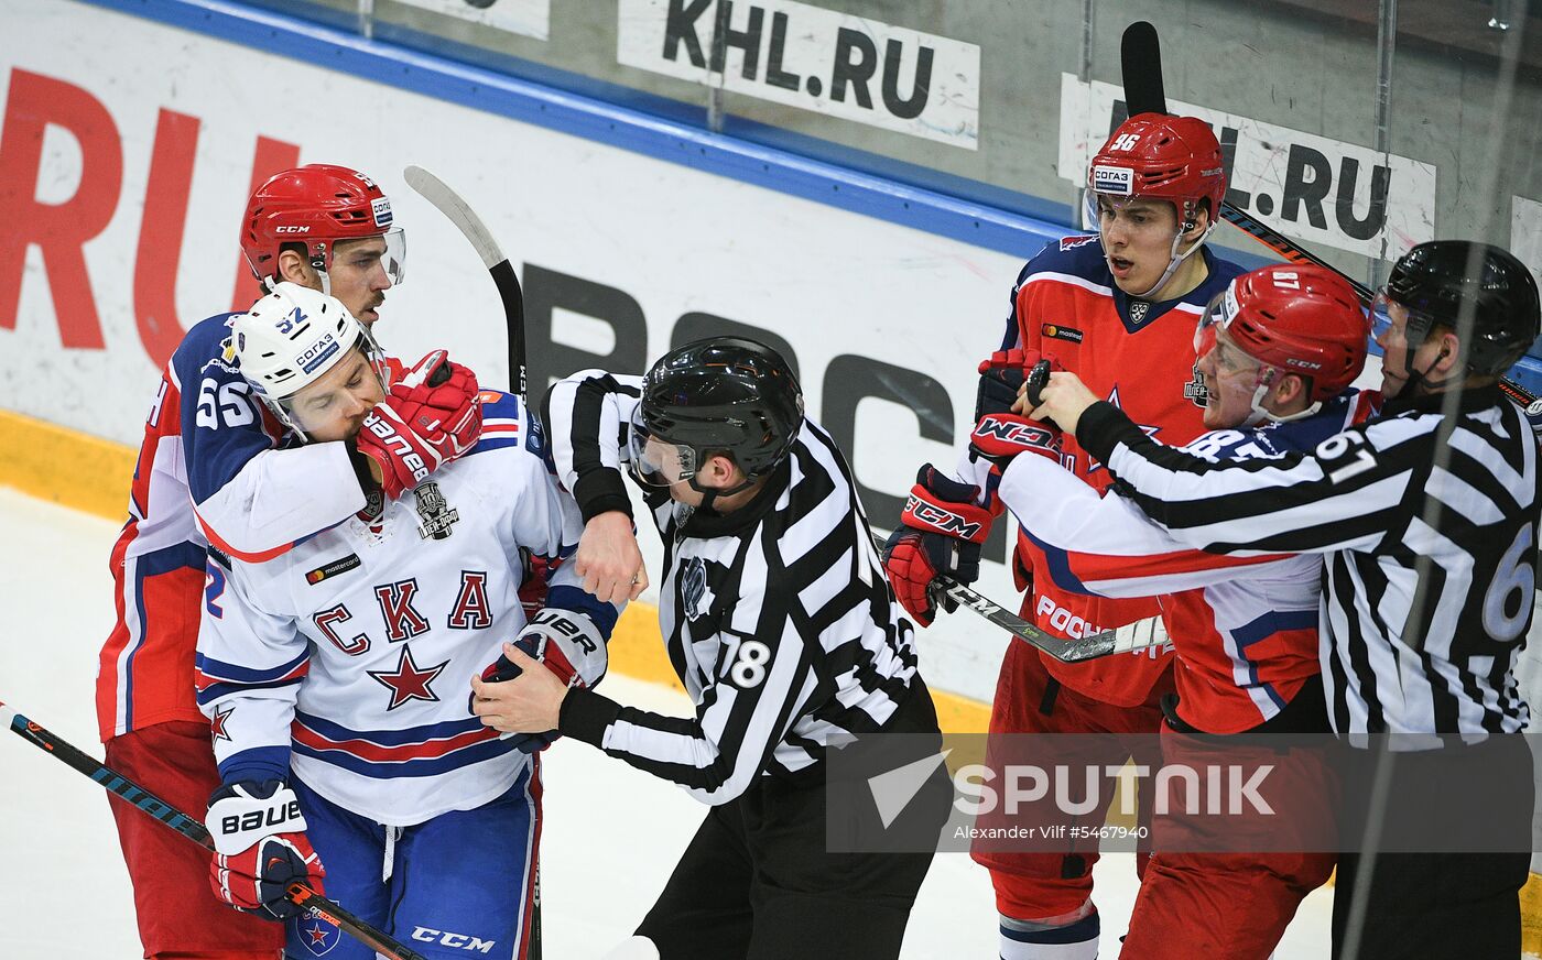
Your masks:
M 1186 233 L 1194 228 L 1201 199 L 1210 202 L 1210 223 L 1221 210 L 1221 145 L 1198 117 L 1136 114 L 1092 157 L 1087 186 L 1093 194 L 1170 200 L 1178 208 L 1178 230 Z

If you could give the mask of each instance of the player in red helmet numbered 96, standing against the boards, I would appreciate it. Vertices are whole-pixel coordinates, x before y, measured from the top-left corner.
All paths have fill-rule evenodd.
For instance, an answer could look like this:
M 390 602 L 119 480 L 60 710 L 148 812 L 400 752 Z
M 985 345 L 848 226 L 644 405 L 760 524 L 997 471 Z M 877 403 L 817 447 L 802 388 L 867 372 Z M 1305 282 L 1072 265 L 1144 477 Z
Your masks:
M 1002 353 L 981 378 L 976 419 L 1007 410 L 1016 399 L 1021 374 L 1002 384 L 1002 370 L 1021 371 L 1039 356 L 1053 356 L 1155 436 L 1187 442 L 1201 430 L 1201 404 L 1190 384 L 1194 325 L 1210 297 L 1241 273 L 1204 248 L 1226 193 L 1220 145 L 1194 117 L 1132 117 L 1093 157 L 1089 190 L 1098 206 L 1098 233 L 1050 243 L 1022 268 Z M 1107 470 L 1070 436 L 1064 456 L 1093 487 L 1109 484 Z M 927 595 L 936 575 L 965 582 L 978 575 L 990 519 L 975 505 L 979 495 L 971 484 L 925 465 L 904 525 L 890 538 L 890 581 L 922 624 L 936 613 Z M 956 532 L 922 519 L 927 513 L 965 516 L 965 527 L 976 533 L 959 539 Z M 1039 575 L 1044 556 L 1027 538 L 1019 536 L 1013 559 L 1021 586 L 1032 582 L 1024 616 L 1056 636 L 1160 629 L 1155 599 L 1078 595 Z M 992 706 L 992 741 L 1029 732 L 1155 733 L 1161 697 L 1170 690 L 1170 646 L 1070 666 L 1012 644 Z M 1123 764 L 1126 747 L 1115 738 L 1109 744 L 1106 761 Z M 1109 800 L 1092 820 L 1101 823 Z M 975 858 L 990 869 L 996 888 L 1001 957 L 1096 955 L 1096 841 L 1062 852 L 976 849 Z

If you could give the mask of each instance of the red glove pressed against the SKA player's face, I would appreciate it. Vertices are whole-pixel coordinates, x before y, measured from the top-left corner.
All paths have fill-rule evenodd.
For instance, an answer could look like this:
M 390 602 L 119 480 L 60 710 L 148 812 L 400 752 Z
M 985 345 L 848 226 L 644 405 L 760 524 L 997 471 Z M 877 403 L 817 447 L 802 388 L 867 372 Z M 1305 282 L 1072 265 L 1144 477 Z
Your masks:
M 381 487 L 395 499 L 475 447 L 478 436 L 476 376 L 435 350 L 370 410 L 355 445 L 379 464 Z

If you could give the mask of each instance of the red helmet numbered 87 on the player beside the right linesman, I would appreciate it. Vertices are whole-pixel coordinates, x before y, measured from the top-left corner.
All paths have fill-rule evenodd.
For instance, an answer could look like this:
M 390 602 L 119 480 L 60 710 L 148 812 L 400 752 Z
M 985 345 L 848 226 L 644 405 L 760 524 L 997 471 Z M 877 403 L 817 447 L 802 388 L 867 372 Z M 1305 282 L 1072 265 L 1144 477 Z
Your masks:
M 1266 367 L 1308 378 L 1311 402 L 1326 401 L 1365 368 L 1371 321 L 1354 287 L 1325 267 L 1275 263 L 1244 273 L 1210 300 L 1198 345 L 1215 328 Z

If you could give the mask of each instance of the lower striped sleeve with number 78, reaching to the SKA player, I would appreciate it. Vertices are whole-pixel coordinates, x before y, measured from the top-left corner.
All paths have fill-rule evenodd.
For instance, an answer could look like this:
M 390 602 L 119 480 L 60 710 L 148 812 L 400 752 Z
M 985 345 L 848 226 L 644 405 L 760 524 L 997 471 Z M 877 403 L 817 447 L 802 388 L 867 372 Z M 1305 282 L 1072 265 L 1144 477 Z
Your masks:
M 754 556 L 762 553 L 759 544 L 751 553 L 745 578 L 760 586 L 740 593 L 731 623 L 695 641 L 699 652 L 715 649 L 695 717 L 623 707 L 575 687 L 563 701 L 561 733 L 672 780 L 703 803 L 715 806 L 742 795 L 766 769 L 816 684 L 813 649 L 799 633 L 803 618 L 763 589 L 766 559 Z

